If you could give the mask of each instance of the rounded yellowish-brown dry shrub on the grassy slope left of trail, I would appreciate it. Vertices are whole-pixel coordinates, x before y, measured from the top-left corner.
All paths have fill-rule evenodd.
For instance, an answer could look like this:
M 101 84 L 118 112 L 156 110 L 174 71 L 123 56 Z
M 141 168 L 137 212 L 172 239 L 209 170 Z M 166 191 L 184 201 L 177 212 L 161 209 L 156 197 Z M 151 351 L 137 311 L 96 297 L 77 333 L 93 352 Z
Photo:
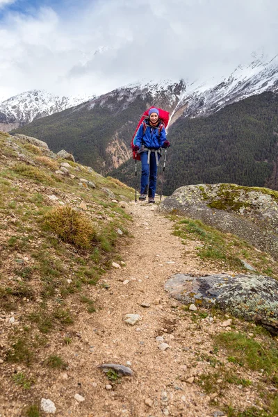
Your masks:
M 57 207 L 45 215 L 47 225 L 64 242 L 90 249 L 95 239 L 92 222 L 70 206 Z

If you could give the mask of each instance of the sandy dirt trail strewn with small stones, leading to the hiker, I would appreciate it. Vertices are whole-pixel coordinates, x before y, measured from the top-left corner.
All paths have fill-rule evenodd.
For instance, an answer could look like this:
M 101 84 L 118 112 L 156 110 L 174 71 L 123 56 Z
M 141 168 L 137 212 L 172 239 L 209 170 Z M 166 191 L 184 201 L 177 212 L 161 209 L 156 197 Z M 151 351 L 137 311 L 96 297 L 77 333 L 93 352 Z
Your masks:
M 81 338 L 61 352 L 70 363 L 67 375 L 60 375 L 63 388 L 58 379 L 44 398 L 63 409 L 57 416 L 211 416 L 210 398 L 186 382 L 201 371 L 191 368 L 195 345 L 202 343 L 202 349 L 209 350 L 209 337 L 204 337 L 206 332 L 193 334 L 195 325 L 189 317 L 180 319 L 179 304 L 164 291 L 165 281 L 175 272 L 208 271 L 190 256 L 194 243 L 185 247 L 173 236 L 172 222 L 158 215 L 156 207 L 138 204 L 131 211 L 134 239 L 122 254 L 126 267 L 105 277 L 110 288 L 99 290 L 96 304 L 101 309 L 90 321 L 80 314 L 74 329 Z M 140 306 L 142 302 L 150 307 Z M 127 325 L 123 322 L 127 313 L 140 314 L 142 320 Z M 161 351 L 157 336 L 163 336 L 170 348 Z M 97 368 L 102 363 L 127 363 L 135 375 L 122 377 L 107 390 L 110 382 Z M 85 398 L 81 404 L 74 400 L 76 393 Z

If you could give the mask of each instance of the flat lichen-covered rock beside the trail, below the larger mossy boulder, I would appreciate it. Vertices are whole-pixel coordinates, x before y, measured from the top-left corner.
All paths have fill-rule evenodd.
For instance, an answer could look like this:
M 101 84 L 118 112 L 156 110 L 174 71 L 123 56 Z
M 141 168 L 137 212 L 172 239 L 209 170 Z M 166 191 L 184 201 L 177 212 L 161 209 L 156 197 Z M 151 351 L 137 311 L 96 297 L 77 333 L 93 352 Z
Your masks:
M 218 306 L 233 316 L 263 325 L 278 334 L 278 281 L 263 275 L 175 274 L 165 290 L 183 304 Z

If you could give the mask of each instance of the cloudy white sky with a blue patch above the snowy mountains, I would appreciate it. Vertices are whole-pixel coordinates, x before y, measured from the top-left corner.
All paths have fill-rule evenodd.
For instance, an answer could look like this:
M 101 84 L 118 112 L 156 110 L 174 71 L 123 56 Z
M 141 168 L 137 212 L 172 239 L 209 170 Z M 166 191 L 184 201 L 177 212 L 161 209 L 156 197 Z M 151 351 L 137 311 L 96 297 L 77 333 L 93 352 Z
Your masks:
M 227 76 L 277 39 L 277 0 L 0 0 L 0 98 Z

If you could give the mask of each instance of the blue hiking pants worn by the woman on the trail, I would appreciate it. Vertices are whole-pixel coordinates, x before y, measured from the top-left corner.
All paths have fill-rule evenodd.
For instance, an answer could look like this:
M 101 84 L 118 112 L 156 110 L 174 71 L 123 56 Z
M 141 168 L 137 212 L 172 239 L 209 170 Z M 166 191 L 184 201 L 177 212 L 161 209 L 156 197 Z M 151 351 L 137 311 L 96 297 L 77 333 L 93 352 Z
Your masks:
M 156 194 L 156 176 L 157 176 L 157 165 L 156 165 L 156 154 L 151 152 L 149 157 L 149 164 L 147 163 L 148 152 L 142 152 L 140 154 L 142 162 L 142 174 L 141 174 L 141 190 L 140 194 L 148 194 L 149 197 L 154 197 Z M 158 154 L 158 161 L 161 156 Z M 147 189 L 149 186 L 149 193 Z

